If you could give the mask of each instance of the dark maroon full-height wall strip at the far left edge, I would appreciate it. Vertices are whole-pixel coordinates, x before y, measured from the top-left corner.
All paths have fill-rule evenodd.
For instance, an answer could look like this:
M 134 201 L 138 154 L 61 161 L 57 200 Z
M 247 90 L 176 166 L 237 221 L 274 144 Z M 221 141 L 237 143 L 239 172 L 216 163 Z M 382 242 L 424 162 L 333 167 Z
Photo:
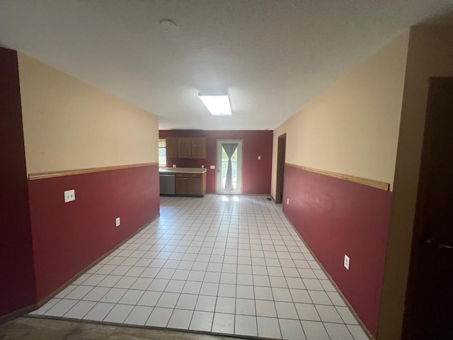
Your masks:
M 0 316 L 36 301 L 17 53 L 0 47 Z

